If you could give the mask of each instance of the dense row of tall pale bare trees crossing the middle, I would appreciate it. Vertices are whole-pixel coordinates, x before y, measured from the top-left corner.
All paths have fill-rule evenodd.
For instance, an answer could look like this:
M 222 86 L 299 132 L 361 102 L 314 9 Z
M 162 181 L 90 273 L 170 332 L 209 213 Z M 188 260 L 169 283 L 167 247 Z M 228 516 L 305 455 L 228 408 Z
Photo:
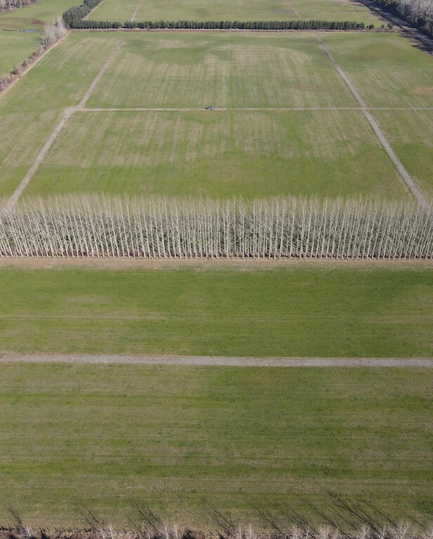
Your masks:
M 29 199 L 1 215 L 0 257 L 431 260 L 433 212 L 362 199 Z

